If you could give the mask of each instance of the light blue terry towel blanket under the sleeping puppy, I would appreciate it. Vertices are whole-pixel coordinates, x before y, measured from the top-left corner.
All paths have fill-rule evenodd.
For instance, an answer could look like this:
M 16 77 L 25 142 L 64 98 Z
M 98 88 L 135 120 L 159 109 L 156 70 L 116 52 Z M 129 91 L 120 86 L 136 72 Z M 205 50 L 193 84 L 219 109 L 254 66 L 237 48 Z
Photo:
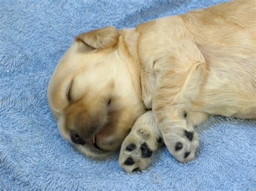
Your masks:
M 197 127 L 197 158 L 162 147 L 152 166 L 126 174 L 118 153 L 91 160 L 60 137 L 46 88 L 73 37 L 203 8 L 221 0 L 0 1 L 0 189 L 255 190 L 256 121 L 212 116 Z

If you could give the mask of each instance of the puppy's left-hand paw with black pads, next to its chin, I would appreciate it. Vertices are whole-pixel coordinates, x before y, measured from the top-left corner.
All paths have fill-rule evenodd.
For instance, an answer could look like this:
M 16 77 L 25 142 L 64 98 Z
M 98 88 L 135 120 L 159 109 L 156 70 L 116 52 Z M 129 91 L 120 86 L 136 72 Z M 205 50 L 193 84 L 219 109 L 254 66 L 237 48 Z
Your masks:
M 157 149 L 157 139 L 150 131 L 138 129 L 131 132 L 125 139 L 119 155 L 119 165 L 127 173 L 142 171 L 151 162 Z

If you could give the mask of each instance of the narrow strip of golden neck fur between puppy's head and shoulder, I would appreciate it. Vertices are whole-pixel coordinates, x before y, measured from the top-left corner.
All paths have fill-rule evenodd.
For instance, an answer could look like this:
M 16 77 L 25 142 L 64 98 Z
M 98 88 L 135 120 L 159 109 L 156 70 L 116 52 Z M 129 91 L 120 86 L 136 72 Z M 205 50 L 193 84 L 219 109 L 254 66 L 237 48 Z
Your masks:
M 119 30 L 120 38 L 119 38 L 119 51 L 125 54 L 125 57 L 129 59 L 129 70 L 131 75 L 131 80 L 133 83 L 133 87 L 136 90 L 136 94 L 142 99 L 142 86 L 140 81 L 140 72 L 142 70 L 142 66 L 139 61 L 138 56 L 138 38 L 139 33 L 135 28 L 131 29 L 121 29 Z

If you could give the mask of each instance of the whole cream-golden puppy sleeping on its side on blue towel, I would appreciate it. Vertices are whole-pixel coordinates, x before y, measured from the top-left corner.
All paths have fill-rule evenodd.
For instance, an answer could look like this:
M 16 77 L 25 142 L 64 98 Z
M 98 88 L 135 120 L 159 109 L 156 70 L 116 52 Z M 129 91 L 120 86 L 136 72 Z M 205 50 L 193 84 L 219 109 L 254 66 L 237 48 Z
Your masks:
M 93 158 L 122 144 L 119 164 L 134 172 L 149 166 L 161 139 L 177 160 L 192 160 L 194 126 L 211 114 L 256 118 L 255 3 L 77 36 L 48 88 L 62 136 Z

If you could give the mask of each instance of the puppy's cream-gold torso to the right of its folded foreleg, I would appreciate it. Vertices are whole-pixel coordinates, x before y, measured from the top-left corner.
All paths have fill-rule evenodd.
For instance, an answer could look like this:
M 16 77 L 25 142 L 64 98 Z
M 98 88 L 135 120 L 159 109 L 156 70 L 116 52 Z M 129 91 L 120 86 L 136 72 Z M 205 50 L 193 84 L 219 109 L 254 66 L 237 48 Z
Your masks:
M 206 60 L 208 76 L 198 100 L 214 103 L 206 104 L 207 111 L 256 117 L 255 2 L 226 2 L 183 16 Z

